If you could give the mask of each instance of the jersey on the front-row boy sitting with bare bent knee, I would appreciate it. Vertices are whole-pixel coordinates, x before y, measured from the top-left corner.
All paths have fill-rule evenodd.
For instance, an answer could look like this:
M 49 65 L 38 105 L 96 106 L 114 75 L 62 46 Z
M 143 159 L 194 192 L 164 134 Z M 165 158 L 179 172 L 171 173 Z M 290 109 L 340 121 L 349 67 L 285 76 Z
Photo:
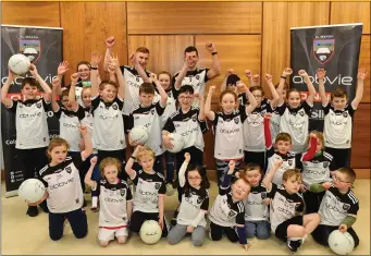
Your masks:
M 304 199 L 299 193 L 288 194 L 283 185 L 272 184 L 270 191 L 270 221 L 273 233 L 279 224 L 304 212 Z

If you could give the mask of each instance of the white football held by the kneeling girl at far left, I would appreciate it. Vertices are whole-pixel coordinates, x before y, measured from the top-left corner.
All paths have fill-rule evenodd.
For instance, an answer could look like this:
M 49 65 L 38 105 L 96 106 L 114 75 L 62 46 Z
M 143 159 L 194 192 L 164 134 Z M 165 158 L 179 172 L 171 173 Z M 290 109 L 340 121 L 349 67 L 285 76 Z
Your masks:
M 37 179 L 27 179 L 18 187 L 18 196 L 27 203 L 36 203 L 45 194 L 45 185 Z

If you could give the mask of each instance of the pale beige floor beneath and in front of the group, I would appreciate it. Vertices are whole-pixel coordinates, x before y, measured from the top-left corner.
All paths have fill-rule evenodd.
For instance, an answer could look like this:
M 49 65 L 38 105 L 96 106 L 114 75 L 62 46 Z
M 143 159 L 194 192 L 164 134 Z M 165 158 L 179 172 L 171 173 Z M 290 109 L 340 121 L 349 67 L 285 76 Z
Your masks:
M 217 194 L 217 185 L 211 185 L 211 199 Z M 355 193 L 360 202 L 358 220 L 354 228 L 360 237 L 360 245 L 353 252 L 354 255 L 370 255 L 370 180 L 359 180 L 355 184 Z M 69 224 L 65 227 L 65 234 L 62 240 L 53 242 L 48 236 L 48 216 L 41 212 L 36 218 L 25 215 L 26 205 L 18 197 L 4 198 L 2 187 L 2 237 L 1 254 L 79 254 L 79 255 L 124 255 L 124 254 L 156 254 L 156 255 L 289 255 L 286 245 L 273 235 L 267 241 L 255 239 L 248 252 L 245 252 L 238 244 L 232 244 L 224 237 L 222 241 L 212 242 L 206 239 L 201 247 L 194 247 L 190 239 L 184 239 L 177 245 L 168 244 L 162 239 L 154 245 L 144 244 L 137 234 L 134 234 L 127 244 L 119 245 L 112 242 L 108 247 L 101 248 L 97 243 L 98 214 L 87 210 L 89 233 L 83 240 L 76 240 Z M 171 216 L 176 207 L 176 194 L 165 199 L 166 216 Z M 299 248 L 298 255 L 331 255 L 329 247 L 318 245 L 312 237 L 309 237 Z

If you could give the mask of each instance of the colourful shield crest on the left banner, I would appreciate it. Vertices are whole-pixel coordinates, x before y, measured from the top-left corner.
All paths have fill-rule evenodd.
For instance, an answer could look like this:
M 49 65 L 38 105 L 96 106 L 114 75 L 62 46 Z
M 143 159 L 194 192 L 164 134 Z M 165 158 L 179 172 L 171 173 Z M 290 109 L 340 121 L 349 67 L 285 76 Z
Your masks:
M 35 64 L 40 58 L 41 44 L 38 36 L 20 36 L 20 52 L 26 56 L 30 63 Z

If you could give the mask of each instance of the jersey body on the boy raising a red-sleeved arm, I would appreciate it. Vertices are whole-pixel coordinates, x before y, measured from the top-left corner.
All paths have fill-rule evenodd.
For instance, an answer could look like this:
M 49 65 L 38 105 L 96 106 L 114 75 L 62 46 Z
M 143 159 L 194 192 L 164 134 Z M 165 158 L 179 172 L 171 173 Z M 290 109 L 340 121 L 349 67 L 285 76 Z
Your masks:
M 265 175 L 273 169 L 274 161 L 282 160 L 283 162 L 279 170 L 275 171 L 272 180 L 272 183 L 281 185 L 283 173 L 286 170 L 300 168 L 300 157 L 301 155 L 295 154 L 293 151 L 288 151 L 286 155 L 281 155 L 274 149 L 273 146 L 267 148 L 268 164 Z

